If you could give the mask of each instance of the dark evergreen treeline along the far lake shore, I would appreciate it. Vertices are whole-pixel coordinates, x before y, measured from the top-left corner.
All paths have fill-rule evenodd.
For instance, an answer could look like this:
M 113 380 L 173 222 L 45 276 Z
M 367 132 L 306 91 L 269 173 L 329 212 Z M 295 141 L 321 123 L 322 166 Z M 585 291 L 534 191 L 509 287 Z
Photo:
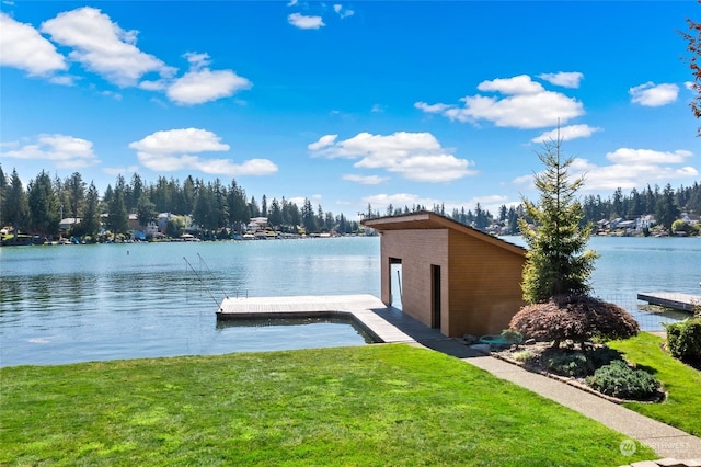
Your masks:
M 652 223 L 636 231 L 665 235 L 698 236 L 701 224 L 701 184 L 680 186 L 658 185 L 642 191 L 631 190 L 624 195 L 621 189 L 607 197 L 588 195 L 581 198 L 583 223 L 591 221 L 600 230 L 616 229 L 613 219 L 636 220 L 647 217 Z M 358 217 L 377 217 L 407 214 L 430 209 L 461 224 L 496 235 L 518 235 L 518 218 L 526 218 L 522 205 L 502 205 L 496 214 L 483 209 L 478 203 L 473 209 L 464 207 L 447 212 L 444 204 L 386 206 L 383 210 L 368 204 Z M 301 206 L 281 198 L 261 200 L 248 197 L 235 180 L 227 185 L 219 179 L 205 182 L 188 175 L 183 182 L 159 176 L 149 183 L 138 173 L 127 182 L 117 175 L 102 195 L 94 183 L 88 184 L 79 172 L 61 180 L 42 171 L 26 189 L 16 173 L 8 176 L 0 166 L 0 228 L 5 232 L 19 232 L 53 239 L 61 235 L 88 241 L 105 241 L 119 236 L 125 238 L 133 230 L 129 215 L 140 226 L 158 220 L 159 213 L 170 213 L 170 220 L 162 235 L 179 237 L 188 228 L 202 239 L 229 238 L 240 235 L 252 218 L 266 217 L 267 224 L 279 232 L 299 234 L 355 234 L 359 221 L 343 214 L 324 212 L 321 204 L 312 205 L 304 198 Z M 76 219 L 70 231 L 61 230 L 62 219 Z

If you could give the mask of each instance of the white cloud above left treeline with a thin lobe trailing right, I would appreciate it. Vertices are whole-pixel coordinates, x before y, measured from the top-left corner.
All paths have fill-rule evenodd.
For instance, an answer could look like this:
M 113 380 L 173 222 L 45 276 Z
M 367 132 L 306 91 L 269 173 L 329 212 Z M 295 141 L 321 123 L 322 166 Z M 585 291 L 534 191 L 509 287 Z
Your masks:
M 277 172 L 277 166 L 267 159 L 251 159 L 234 163 L 231 159 L 207 159 L 193 153 L 228 151 L 229 145 L 211 132 L 181 128 L 152 133 L 129 144 L 137 150 L 139 162 L 154 171 L 199 170 L 220 175 L 267 175 Z

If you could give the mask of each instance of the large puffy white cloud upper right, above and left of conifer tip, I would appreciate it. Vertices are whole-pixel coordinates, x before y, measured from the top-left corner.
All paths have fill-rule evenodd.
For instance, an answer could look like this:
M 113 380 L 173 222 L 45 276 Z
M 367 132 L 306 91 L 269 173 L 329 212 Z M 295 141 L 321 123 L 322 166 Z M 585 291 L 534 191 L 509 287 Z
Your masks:
M 547 91 L 527 75 L 507 79 L 483 81 L 483 92 L 498 92 L 503 98 L 472 95 L 461 99 L 463 106 L 417 102 L 415 107 L 427 113 L 444 115 L 452 121 L 492 122 L 501 127 L 542 128 L 566 123 L 584 114 L 581 102 L 559 92 Z

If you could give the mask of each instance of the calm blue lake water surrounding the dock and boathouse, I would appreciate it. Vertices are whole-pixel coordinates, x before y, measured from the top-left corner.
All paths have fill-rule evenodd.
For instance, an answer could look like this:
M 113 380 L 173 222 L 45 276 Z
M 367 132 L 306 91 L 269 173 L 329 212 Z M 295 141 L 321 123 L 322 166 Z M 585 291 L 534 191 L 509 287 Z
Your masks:
M 507 241 L 524 244 L 519 237 Z M 595 295 L 644 329 L 640 292 L 701 295 L 701 239 L 593 238 Z M 380 295 L 380 240 L 130 243 L 0 249 L 0 366 L 361 345 L 347 323 L 235 327 L 215 311 L 230 296 Z

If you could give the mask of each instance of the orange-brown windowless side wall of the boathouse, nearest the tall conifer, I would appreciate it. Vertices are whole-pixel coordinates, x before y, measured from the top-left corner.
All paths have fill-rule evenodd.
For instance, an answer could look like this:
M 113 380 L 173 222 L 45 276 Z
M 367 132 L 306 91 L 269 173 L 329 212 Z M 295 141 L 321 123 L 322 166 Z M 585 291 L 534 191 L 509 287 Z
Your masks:
M 461 235 L 449 235 L 449 337 L 497 334 L 524 306 L 525 257 Z

